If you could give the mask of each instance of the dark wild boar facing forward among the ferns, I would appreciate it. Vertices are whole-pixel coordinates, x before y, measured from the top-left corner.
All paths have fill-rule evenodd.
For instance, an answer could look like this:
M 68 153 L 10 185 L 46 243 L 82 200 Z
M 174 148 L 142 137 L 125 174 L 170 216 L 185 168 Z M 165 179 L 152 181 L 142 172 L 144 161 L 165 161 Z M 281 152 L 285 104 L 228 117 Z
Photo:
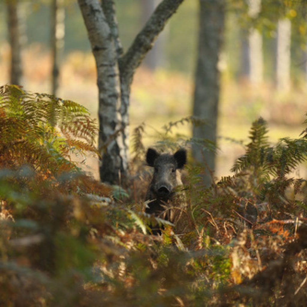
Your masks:
M 174 154 L 158 153 L 149 148 L 146 153 L 146 162 L 154 168 L 153 178 L 146 193 L 146 209 L 148 214 L 154 214 L 171 223 L 177 221 L 174 205 L 182 203 L 182 193 L 176 191 L 182 185 L 180 169 L 186 164 L 187 153 L 185 149 L 179 149 Z M 179 208 L 182 204 L 179 204 Z M 180 210 L 179 210 L 180 211 Z M 156 227 L 153 234 L 161 233 Z

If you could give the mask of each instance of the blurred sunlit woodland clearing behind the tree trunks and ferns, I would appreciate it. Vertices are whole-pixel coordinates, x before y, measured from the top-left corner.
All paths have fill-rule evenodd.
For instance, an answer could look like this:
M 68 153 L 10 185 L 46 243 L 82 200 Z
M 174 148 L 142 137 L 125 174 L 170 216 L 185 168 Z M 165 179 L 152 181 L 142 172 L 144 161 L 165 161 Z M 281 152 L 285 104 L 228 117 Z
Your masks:
M 143 2 L 143 3 L 142 3 Z M 124 49 L 144 24 L 146 1 L 116 1 L 119 33 Z M 147 1 L 150 10 L 153 5 Z M 244 2 L 243 2 L 244 3 Z M 246 32 L 250 29 L 247 10 L 236 8 L 236 2 L 227 3 L 226 29 L 223 51 L 220 58 L 222 71 L 221 96 L 219 105 L 218 147 L 216 175 L 227 175 L 236 157 L 243 149 L 230 144 L 224 138 L 247 140 L 248 127 L 251 122 L 262 116 L 269 122 L 270 136 L 276 141 L 282 136 L 297 136 L 304 119 L 306 90 L 306 46 L 304 7 L 296 8 L 280 1 L 267 1 L 265 10 L 271 10 L 275 19 L 278 10 L 285 10 L 287 20 L 292 22 L 291 37 L 285 44 L 290 44 L 286 53 L 289 68 L 286 68 L 283 80 L 285 83 L 278 89 L 276 56 L 277 56 L 277 22 L 270 20 L 265 12 L 264 17 L 256 19 L 256 28 L 262 38 L 262 59 L 256 65 L 263 65 L 262 77 L 249 75 L 246 60 Z M 157 1 L 156 1 L 157 4 Z M 247 2 L 246 2 L 247 4 Z M 51 10 L 48 1 L 21 2 L 24 18 L 24 86 L 29 91 L 51 92 Z M 6 9 L 2 4 L 0 18 L 1 41 L 1 84 L 6 84 L 9 77 L 10 48 L 7 43 Z M 239 5 L 237 5 L 239 6 Z M 97 116 L 97 90 L 95 62 L 91 55 L 86 29 L 78 5 L 74 1 L 65 1 L 63 50 L 60 56 L 60 86 L 58 96 L 72 99 L 86 106 L 93 117 Z M 292 9 L 292 11 L 291 11 Z M 297 11 L 296 11 L 297 10 Z M 289 13 L 289 11 L 291 11 Z M 146 15 L 147 14 L 147 15 Z M 292 14 L 292 16 L 291 16 Z M 250 22 L 250 21 L 249 21 Z M 194 91 L 194 72 L 197 50 L 198 3 L 187 1 L 180 6 L 170 19 L 163 37 L 158 39 L 157 50 L 147 57 L 142 68 L 137 70 L 134 78 L 130 126 L 146 122 L 147 126 L 159 128 L 164 124 L 187 117 L 192 112 Z M 288 41 L 287 41 L 288 39 Z M 287 47 L 286 47 L 287 49 Z M 256 52 L 259 52 L 256 50 Z M 153 52 L 152 52 L 153 53 Z M 253 55 L 251 55 L 253 56 Z M 255 55 L 256 60 L 257 56 Z M 155 58 L 155 59 L 153 59 Z M 150 61 L 152 62 L 150 64 Z M 254 64 L 255 65 L 255 64 Z M 282 68 L 285 69 L 285 68 Z M 289 72 L 288 72 L 289 70 Z M 257 72 L 256 72 L 257 74 Z M 258 78 L 250 82 L 251 78 Z M 256 84 L 255 84 L 256 83 Z M 282 87 L 282 89 L 280 89 Z M 158 107 L 157 107 L 158 106 Z M 130 129 L 131 129 L 130 128 Z M 191 127 L 180 127 L 180 133 L 191 135 Z M 151 131 L 151 133 L 154 133 Z M 150 141 L 146 142 L 150 145 Z M 98 178 L 98 162 L 89 160 L 94 176 Z M 305 172 L 305 169 L 302 170 Z

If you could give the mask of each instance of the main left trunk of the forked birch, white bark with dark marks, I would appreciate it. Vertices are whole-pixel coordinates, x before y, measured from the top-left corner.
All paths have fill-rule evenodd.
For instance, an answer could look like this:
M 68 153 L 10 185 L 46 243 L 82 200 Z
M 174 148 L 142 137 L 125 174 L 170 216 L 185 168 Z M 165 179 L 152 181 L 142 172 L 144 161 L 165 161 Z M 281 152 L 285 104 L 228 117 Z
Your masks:
M 97 0 L 78 0 L 97 69 L 99 91 L 99 150 L 103 150 L 100 178 L 110 183 L 118 182 L 125 173 L 127 161 L 120 154 L 122 138 L 114 138 L 121 129 L 119 71 L 115 44 L 102 7 Z

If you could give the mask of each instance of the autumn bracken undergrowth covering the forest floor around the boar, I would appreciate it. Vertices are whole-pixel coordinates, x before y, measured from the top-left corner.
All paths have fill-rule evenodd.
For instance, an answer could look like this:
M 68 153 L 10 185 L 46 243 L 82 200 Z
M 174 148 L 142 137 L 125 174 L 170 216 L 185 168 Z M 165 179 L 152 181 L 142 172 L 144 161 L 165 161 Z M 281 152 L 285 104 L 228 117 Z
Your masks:
M 212 142 L 155 132 L 156 147 Z M 307 122 L 305 122 L 306 124 Z M 269 142 L 263 119 L 246 151 L 212 186 L 190 159 L 179 226 L 148 234 L 148 127 L 133 130 L 131 178 L 111 187 L 70 154 L 98 154 L 96 123 L 77 103 L 0 90 L 1 306 L 305 306 L 307 134 Z

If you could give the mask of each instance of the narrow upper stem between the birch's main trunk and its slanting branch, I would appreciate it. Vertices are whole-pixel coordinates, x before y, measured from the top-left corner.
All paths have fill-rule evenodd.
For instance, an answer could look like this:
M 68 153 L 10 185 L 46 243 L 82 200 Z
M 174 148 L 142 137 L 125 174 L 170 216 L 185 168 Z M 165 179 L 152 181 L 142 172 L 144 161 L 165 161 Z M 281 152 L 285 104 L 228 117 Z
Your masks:
M 118 23 L 116 20 L 115 2 L 114 0 L 103 0 L 101 1 L 101 7 L 104 15 L 107 19 L 107 23 L 111 30 L 111 35 L 114 38 L 115 51 L 117 56 L 121 56 L 123 53 L 122 44 L 119 39 Z

